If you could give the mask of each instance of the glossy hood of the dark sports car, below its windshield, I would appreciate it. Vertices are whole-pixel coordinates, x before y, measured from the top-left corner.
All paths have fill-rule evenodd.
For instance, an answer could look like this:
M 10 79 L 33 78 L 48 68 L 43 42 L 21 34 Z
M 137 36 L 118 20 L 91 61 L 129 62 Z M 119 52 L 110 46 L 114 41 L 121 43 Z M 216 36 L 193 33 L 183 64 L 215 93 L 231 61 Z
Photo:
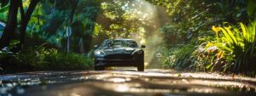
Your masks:
M 102 48 L 99 50 L 102 50 L 105 54 L 132 54 L 139 48 Z

